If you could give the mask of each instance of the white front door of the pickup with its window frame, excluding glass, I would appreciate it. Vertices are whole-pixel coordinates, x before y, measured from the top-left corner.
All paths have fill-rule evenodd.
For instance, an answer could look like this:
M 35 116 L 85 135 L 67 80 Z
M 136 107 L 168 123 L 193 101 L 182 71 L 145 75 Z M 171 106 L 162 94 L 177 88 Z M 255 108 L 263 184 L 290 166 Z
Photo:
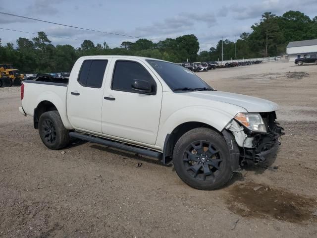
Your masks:
M 130 60 L 130 58 L 113 58 L 109 65 L 109 79 L 113 74 L 116 60 Z M 138 59 L 135 61 L 150 72 L 157 84 L 157 93 L 145 95 L 113 90 L 111 80 L 106 80 L 104 96 L 115 100 L 103 100 L 102 131 L 106 135 L 155 145 L 159 129 L 162 85 L 145 62 Z

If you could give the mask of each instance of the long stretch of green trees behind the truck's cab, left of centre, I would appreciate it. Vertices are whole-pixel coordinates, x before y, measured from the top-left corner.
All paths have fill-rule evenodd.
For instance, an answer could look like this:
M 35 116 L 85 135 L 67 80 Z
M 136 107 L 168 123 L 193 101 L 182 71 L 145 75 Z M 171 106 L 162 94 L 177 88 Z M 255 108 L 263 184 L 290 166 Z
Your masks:
M 134 43 L 124 41 L 120 48 L 113 49 L 106 42 L 95 45 L 90 40 L 84 40 L 80 48 L 74 49 L 70 45 L 53 46 L 45 32 L 39 32 L 32 41 L 20 37 L 16 44 L 16 48 L 12 43 L 0 46 L 0 59 L 2 62 L 13 63 L 24 73 L 70 71 L 79 57 L 89 55 L 142 56 L 172 62 L 196 60 L 199 50 L 199 43 L 194 35 L 167 38 L 157 44 L 146 39 L 139 39 Z

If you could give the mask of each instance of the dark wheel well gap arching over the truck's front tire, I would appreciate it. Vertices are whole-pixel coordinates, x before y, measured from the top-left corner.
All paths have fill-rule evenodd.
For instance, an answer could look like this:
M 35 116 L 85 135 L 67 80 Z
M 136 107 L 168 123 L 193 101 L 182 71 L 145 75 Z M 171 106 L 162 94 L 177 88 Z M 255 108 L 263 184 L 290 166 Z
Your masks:
M 218 132 L 218 130 L 216 130 L 215 128 L 213 128 L 211 125 L 206 124 L 206 123 L 202 123 L 202 122 L 197 122 L 197 121 L 190 121 L 190 122 L 185 122 L 183 124 L 178 125 L 169 135 L 166 142 L 166 147 L 164 150 L 164 157 L 165 160 L 163 158 L 163 162 L 165 161 L 165 164 L 169 164 L 169 162 L 172 159 L 172 155 L 173 155 L 173 150 L 174 147 L 176 145 L 176 142 L 179 140 L 179 138 L 185 134 L 187 131 L 192 130 L 194 128 L 199 128 L 199 127 L 207 127 L 207 128 L 211 128 L 214 131 Z M 219 133 L 221 134 L 221 133 Z

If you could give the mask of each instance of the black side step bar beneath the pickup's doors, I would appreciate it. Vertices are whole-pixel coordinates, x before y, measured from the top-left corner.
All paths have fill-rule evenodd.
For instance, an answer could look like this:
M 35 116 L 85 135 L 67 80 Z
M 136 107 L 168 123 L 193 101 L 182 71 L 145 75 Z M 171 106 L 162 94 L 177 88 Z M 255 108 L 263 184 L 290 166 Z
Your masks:
M 159 153 L 157 151 L 153 151 L 153 150 L 150 150 L 150 149 L 143 149 L 143 148 L 135 147 L 135 146 L 132 146 L 132 145 L 127 145 L 127 144 L 124 144 L 124 143 L 119 143 L 119 142 L 116 142 L 116 141 L 111 141 L 111 140 L 107 140 L 107 139 L 94 137 L 94 136 L 91 136 L 91 135 L 84 135 L 84 134 L 77 133 L 77 132 L 69 132 L 69 136 L 70 137 L 74 137 L 74 138 L 78 138 L 78 139 L 81 139 L 81 140 L 90 141 L 90 142 L 97 143 L 97 144 L 106 145 L 106 146 L 109 146 L 109 147 L 118 148 L 118 149 L 121 149 L 121 150 L 134 152 L 134 153 L 137 153 L 137 154 L 140 154 L 140 155 L 145 155 L 145 156 L 149 156 L 149 157 L 153 157 L 153 158 L 162 159 L 162 153 Z

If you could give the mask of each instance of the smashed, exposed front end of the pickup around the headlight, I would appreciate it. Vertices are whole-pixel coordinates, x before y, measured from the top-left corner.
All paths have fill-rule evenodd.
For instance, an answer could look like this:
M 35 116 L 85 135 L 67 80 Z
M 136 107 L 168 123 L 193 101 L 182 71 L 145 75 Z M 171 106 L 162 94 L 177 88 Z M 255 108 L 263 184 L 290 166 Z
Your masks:
M 239 165 L 258 164 L 276 153 L 280 145 L 279 139 L 284 134 L 283 127 L 276 121 L 275 112 L 261 114 L 267 132 L 254 132 L 232 120 L 226 129 L 234 136 L 238 145 Z

